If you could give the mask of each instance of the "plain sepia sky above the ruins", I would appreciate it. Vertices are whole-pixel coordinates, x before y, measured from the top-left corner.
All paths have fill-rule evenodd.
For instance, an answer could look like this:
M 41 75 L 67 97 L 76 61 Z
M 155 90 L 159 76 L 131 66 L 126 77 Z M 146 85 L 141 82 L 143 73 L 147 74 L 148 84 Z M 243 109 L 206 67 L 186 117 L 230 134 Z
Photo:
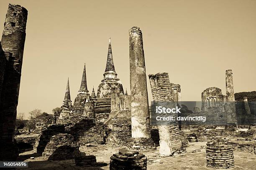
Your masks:
M 201 101 L 207 87 L 225 94 L 225 70 L 235 92 L 256 90 L 256 0 L 1 0 L 28 10 L 17 112 L 60 107 L 69 77 L 72 102 L 84 62 L 90 93 L 103 79 L 108 37 L 115 70 L 130 94 L 128 30 L 143 32 L 146 74 L 168 72 L 183 101 Z M 150 84 L 148 96 L 152 100 Z

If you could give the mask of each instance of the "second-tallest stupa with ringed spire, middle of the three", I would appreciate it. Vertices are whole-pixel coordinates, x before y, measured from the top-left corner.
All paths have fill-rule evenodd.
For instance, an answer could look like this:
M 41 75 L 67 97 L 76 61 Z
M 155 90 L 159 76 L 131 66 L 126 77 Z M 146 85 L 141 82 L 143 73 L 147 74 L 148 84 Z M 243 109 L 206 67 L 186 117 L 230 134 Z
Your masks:
M 82 81 L 80 85 L 80 89 L 78 91 L 78 95 L 74 100 L 74 113 L 83 113 L 84 112 L 84 104 L 90 101 L 90 94 L 87 90 L 87 80 L 86 80 L 86 68 L 84 63 L 84 70 L 82 75 Z

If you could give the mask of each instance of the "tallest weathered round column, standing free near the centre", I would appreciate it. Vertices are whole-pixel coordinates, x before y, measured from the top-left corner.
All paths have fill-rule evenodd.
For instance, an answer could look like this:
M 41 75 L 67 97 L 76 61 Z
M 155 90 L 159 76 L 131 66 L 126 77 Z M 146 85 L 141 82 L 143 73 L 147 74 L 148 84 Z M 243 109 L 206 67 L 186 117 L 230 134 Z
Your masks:
M 142 32 L 133 27 L 129 36 L 132 138 L 151 138 Z

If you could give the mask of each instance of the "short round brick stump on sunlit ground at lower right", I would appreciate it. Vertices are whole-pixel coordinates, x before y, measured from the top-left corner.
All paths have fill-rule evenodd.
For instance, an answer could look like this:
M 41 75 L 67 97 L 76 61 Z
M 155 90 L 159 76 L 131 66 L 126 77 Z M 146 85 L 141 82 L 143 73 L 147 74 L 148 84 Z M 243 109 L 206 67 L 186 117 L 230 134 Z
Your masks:
M 206 160 L 207 167 L 226 169 L 235 166 L 233 149 L 218 141 L 207 143 Z

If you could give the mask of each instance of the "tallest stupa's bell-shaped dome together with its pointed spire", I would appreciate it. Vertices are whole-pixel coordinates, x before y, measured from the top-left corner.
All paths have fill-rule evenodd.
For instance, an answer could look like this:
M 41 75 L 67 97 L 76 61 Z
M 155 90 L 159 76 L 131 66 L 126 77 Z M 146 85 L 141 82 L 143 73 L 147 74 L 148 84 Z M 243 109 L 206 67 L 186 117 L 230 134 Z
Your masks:
M 107 64 L 103 77 L 104 78 L 101 80 L 98 87 L 97 98 L 111 97 L 111 95 L 115 93 L 124 94 L 123 85 L 117 78 L 117 73 L 115 72 L 110 38 L 108 44 Z

